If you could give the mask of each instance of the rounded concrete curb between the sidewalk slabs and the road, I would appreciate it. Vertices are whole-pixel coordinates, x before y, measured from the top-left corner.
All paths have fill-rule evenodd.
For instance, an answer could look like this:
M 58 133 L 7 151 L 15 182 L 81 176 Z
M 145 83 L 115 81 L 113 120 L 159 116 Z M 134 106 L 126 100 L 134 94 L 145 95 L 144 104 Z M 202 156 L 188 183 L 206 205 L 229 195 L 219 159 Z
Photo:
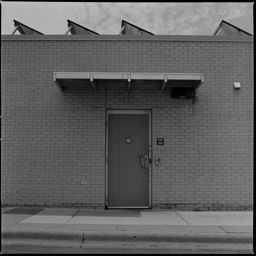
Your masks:
M 152 231 L 83 231 L 51 229 L 2 229 L 2 242 L 63 241 L 63 243 L 87 242 L 186 242 L 186 243 L 253 243 L 250 233 L 199 233 Z

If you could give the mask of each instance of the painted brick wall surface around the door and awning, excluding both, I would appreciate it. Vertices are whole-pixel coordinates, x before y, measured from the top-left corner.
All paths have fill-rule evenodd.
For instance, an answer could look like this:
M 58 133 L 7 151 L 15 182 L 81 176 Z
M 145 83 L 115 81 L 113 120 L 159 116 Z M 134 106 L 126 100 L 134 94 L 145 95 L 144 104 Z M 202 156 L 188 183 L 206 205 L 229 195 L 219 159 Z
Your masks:
M 252 51 L 252 42 L 2 41 L 2 202 L 103 208 L 106 108 L 151 108 L 152 206 L 252 204 Z M 205 82 L 195 99 L 61 92 L 53 72 L 196 72 Z

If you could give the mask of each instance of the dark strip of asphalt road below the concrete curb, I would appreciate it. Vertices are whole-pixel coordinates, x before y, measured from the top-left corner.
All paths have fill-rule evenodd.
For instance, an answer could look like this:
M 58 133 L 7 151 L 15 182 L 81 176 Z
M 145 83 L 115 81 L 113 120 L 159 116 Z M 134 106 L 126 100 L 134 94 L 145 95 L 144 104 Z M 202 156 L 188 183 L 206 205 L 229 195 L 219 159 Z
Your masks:
M 69 248 L 52 246 L 2 245 L 1 254 L 253 254 L 252 250 L 225 249 L 163 249 L 163 248 Z

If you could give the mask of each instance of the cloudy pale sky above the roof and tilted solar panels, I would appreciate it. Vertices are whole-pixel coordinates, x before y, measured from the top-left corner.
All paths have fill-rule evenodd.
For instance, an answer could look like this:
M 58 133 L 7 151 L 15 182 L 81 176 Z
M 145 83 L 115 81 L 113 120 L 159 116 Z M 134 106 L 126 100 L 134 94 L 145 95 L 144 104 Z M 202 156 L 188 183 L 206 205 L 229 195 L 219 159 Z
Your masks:
M 253 34 L 253 2 L 1 1 L 2 35 L 13 20 L 45 35 L 64 35 L 67 20 L 101 35 L 118 35 L 122 20 L 155 35 L 212 36 L 222 20 Z

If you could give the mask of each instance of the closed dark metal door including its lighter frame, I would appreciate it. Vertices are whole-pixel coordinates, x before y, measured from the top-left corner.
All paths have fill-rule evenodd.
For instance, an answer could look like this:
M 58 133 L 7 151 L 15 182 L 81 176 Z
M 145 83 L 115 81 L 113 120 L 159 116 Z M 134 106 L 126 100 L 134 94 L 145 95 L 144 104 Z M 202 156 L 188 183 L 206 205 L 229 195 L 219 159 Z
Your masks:
M 149 208 L 150 111 L 107 111 L 108 208 Z

